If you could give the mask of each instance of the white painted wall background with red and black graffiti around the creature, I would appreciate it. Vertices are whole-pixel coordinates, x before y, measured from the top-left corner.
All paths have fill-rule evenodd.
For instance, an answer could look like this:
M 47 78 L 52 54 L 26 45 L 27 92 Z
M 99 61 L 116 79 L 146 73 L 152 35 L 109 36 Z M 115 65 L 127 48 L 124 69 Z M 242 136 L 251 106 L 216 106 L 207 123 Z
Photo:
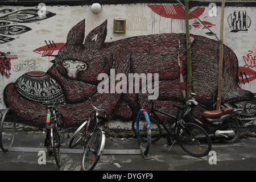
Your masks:
M 213 3 L 192 7 L 190 11 L 220 38 L 221 7 Z M 114 19 L 126 20 L 125 33 L 122 32 L 123 29 L 121 32 L 114 32 Z M 3 5 L 0 7 L 2 76 L 0 78 L 0 109 L 6 109 L 4 100 L 11 100 L 4 94 L 6 85 L 15 83 L 18 78 L 28 72 L 47 72 L 53 65 L 51 60 L 54 60 L 60 48 L 65 46 L 69 31 L 82 20 L 85 20 L 85 38 L 94 28 L 108 20 L 105 43 L 131 37 L 138 38 L 138 36 L 185 33 L 184 9 L 177 3 L 102 5 L 102 10 L 98 14 L 92 13 L 90 5 L 47 6 L 44 3 L 31 7 Z M 212 32 L 191 13 L 189 13 L 189 31 L 193 35 L 217 40 Z M 224 44 L 232 49 L 237 57 L 238 85 L 241 89 L 249 90 L 253 94 L 256 93 L 255 33 L 255 7 L 225 7 Z M 143 41 L 146 40 L 143 39 Z M 202 49 L 198 51 L 204 53 Z M 211 59 L 212 57 L 208 57 L 209 63 Z M 217 74 L 207 70 L 205 72 L 209 78 L 213 77 L 212 74 Z M 216 90 L 211 81 L 208 87 L 209 90 Z M 20 109 L 17 108 L 17 110 Z

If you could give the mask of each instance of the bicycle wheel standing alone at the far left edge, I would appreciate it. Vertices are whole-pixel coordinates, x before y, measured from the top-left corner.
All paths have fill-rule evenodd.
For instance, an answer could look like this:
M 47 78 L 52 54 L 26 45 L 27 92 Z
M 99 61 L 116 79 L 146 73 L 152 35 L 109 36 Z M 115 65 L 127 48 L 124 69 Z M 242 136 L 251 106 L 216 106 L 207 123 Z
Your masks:
M 11 114 L 11 117 L 10 117 Z M 3 114 L 3 117 L 1 119 L 1 125 L 0 125 L 0 148 L 3 152 L 8 151 L 8 148 L 5 148 L 3 146 L 3 123 L 9 121 L 13 121 L 13 137 L 11 138 L 11 143 L 9 144 L 9 147 L 13 146 L 14 139 L 15 139 L 15 133 L 16 133 L 16 118 L 14 110 L 10 107 L 6 109 L 5 113 Z

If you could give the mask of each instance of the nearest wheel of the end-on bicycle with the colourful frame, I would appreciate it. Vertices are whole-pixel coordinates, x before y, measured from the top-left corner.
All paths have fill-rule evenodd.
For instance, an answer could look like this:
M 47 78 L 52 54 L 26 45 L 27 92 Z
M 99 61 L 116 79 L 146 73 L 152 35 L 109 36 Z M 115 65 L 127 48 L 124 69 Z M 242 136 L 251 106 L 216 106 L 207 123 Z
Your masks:
M 58 167 L 61 166 L 61 158 L 60 158 L 60 137 L 57 133 L 56 128 L 51 128 L 51 145 L 53 148 L 53 155 Z

